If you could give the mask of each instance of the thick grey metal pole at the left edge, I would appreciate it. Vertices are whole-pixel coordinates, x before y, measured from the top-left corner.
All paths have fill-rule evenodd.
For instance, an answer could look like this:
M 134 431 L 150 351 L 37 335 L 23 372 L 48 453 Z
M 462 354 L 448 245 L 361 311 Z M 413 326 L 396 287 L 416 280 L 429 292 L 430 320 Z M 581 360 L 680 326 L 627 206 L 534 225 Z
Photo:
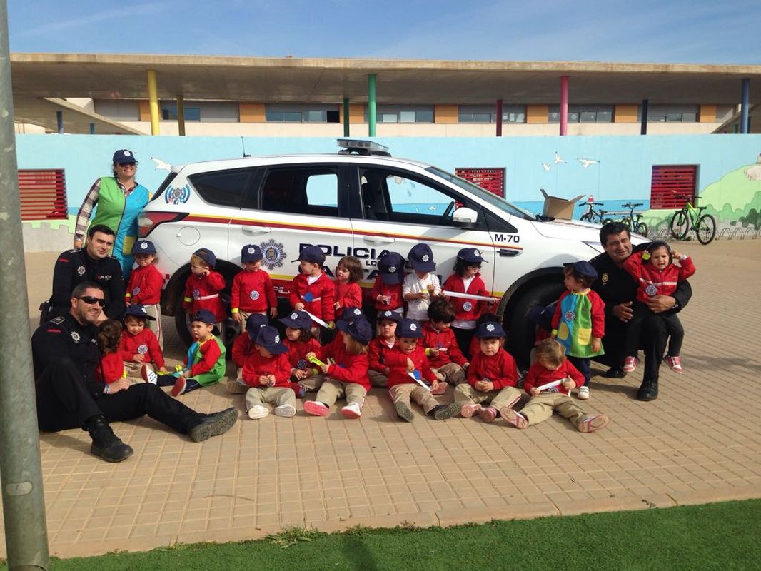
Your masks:
M 48 569 L 40 438 L 34 400 L 13 126 L 8 6 L 0 0 L 0 315 L 14 324 L 0 336 L 0 477 L 8 569 Z

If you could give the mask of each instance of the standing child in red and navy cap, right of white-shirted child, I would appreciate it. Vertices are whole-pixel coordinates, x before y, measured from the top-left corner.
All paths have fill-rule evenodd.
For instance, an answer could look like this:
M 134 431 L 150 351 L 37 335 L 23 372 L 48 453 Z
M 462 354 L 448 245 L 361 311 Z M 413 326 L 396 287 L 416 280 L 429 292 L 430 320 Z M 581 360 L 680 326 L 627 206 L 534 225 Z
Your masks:
M 463 248 L 457 252 L 454 273 L 444 282 L 444 290 L 489 297 L 491 292 L 486 289 L 486 283 L 483 282 L 479 273 L 481 264 L 485 261 L 478 248 Z M 491 311 L 490 306 L 499 301 L 497 298 L 492 299 L 494 301 L 452 297 L 449 300 L 454 305 L 454 321 L 451 326 L 454 337 L 457 337 L 457 343 L 462 352 L 468 355 L 470 355 L 468 350 L 473 340 L 473 333 L 476 332 L 478 318 Z

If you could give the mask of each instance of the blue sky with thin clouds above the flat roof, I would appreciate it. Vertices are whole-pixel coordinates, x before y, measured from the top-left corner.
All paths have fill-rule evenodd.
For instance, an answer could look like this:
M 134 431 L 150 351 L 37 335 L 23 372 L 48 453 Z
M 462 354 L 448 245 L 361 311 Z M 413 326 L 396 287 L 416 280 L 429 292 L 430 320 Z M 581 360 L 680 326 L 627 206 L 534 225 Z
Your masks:
M 758 0 L 7 0 L 11 52 L 761 64 Z

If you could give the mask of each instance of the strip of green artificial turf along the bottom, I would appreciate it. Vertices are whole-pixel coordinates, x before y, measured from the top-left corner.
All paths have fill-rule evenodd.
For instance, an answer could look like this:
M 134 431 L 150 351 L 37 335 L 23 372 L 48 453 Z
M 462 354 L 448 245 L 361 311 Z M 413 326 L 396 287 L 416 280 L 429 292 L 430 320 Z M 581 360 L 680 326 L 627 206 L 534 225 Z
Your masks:
M 761 500 L 452 528 L 291 530 L 259 541 L 53 560 L 52 569 L 761 569 Z M 2 569 L 5 569 L 3 566 Z

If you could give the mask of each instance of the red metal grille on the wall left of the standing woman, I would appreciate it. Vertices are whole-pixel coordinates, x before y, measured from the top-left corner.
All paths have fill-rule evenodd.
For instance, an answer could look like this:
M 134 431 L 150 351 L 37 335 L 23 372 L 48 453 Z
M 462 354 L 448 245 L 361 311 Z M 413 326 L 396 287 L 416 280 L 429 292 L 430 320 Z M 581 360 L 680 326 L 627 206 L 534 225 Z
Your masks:
M 66 178 L 63 169 L 18 171 L 21 220 L 66 219 Z

